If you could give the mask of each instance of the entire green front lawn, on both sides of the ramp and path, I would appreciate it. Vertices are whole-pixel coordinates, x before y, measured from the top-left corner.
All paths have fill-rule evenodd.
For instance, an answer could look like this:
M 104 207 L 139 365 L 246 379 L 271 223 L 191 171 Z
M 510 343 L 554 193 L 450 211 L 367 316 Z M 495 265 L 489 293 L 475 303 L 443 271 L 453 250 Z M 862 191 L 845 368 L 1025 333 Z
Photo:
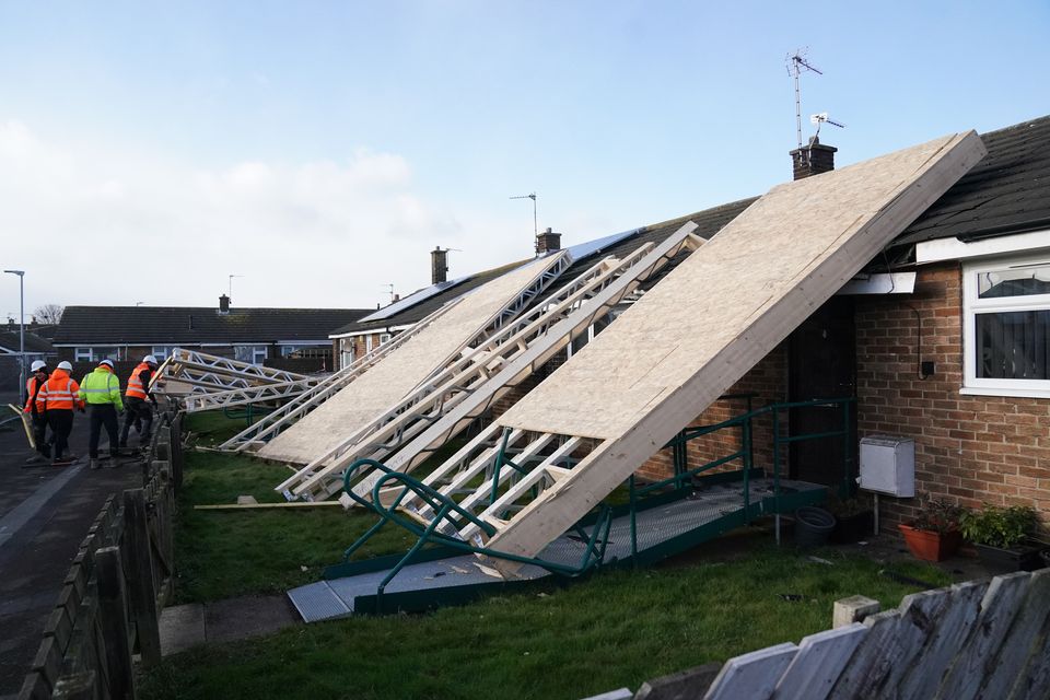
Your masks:
M 187 453 L 176 532 L 180 600 L 275 593 L 315 581 L 371 517 L 341 509 L 192 511 L 250 493 L 279 500 L 287 469 Z M 404 551 L 397 532 L 368 556 Z M 835 600 L 863 594 L 896 607 L 915 591 L 884 568 L 949 583 L 918 561 L 891 567 L 840 550 L 777 548 L 759 528 L 639 571 L 602 571 L 565 587 L 490 597 L 428 615 L 299 626 L 168 657 L 142 679 L 145 698 L 583 698 L 637 689 L 682 670 L 830 627 Z M 301 567 L 306 567 L 302 571 Z

